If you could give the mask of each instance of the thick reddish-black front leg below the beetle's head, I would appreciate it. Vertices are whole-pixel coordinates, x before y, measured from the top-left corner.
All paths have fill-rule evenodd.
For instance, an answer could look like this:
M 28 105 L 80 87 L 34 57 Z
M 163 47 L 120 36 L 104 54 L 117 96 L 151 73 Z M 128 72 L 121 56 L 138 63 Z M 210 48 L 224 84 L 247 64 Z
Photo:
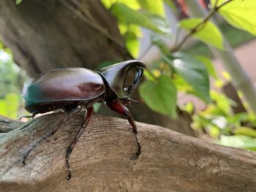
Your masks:
M 140 146 L 140 138 L 138 136 L 137 126 L 135 124 L 135 120 L 132 116 L 132 113 L 127 109 L 127 107 L 124 107 L 124 105 L 120 104 L 118 101 L 110 101 L 110 102 L 107 102 L 106 105 L 108 106 L 108 108 L 110 108 L 110 110 L 113 110 L 115 112 L 118 112 L 126 116 L 129 121 L 129 124 L 132 126 L 132 131 L 135 134 L 136 140 L 138 142 L 138 151 L 135 155 L 132 156 L 132 160 L 136 160 L 141 153 L 141 146 Z

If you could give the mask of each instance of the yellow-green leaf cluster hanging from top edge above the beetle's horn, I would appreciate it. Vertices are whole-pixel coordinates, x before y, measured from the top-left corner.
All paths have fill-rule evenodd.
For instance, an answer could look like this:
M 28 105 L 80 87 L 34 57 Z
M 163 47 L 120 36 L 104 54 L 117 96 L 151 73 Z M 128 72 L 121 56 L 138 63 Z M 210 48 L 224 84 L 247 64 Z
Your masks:
M 165 19 L 165 1 L 148 0 L 102 0 L 118 20 L 118 28 L 124 37 L 127 49 L 136 57 L 139 53 L 142 35 L 140 27 L 148 28 L 156 34 L 170 37 L 170 26 Z M 172 2 L 168 3 L 173 6 Z

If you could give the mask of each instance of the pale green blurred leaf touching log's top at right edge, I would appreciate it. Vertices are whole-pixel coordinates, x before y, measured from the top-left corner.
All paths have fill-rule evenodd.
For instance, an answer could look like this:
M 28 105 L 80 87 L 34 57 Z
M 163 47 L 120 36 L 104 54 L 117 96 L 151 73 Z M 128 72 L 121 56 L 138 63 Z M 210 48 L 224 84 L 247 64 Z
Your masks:
M 225 136 L 221 135 L 216 141 L 219 145 L 238 147 L 247 150 L 256 150 L 256 139 L 244 135 Z

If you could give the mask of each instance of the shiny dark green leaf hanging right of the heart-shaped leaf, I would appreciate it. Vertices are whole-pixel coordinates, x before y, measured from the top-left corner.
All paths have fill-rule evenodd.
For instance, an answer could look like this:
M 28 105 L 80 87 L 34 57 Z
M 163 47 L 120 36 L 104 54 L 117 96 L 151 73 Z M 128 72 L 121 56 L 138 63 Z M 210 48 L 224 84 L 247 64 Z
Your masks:
M 209 94 L 209 78 L 206 66 L 199 60 L 185 53 L 175 53 L 171 57 L 162 55 L 162 58 L 173 66 L 178 74 L 184 78 L 195 91 L 195 95 L 206 102 L 211 101 Z

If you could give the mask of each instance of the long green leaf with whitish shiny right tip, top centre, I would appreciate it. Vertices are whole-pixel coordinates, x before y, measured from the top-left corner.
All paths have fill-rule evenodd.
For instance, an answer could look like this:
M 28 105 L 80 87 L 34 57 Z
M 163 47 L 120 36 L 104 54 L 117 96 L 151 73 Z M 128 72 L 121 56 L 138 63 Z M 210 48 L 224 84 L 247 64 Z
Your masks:
M 159 34 L 170 35 L 170 28 L 167 29 L 163 25 L 165 23 L 164 18 L 156 15 L 145 15 L 145 13 L 143 14 L 142 12 L 131 9 L 122 3 L 114 4 L 111 11 L 118 19 L 118 23 L 127 25 L 136 24 Z

